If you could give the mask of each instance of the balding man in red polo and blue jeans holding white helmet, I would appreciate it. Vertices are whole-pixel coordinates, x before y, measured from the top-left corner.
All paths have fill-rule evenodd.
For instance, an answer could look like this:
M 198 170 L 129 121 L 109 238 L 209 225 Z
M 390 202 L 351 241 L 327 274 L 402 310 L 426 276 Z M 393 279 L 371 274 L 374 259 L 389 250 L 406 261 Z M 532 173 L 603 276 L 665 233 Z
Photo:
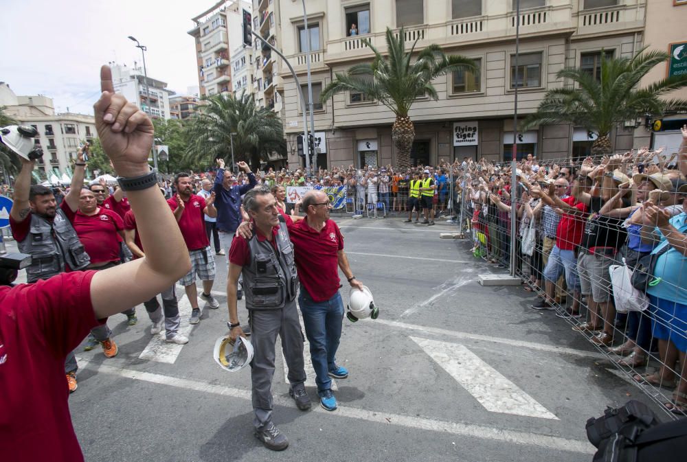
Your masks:
M 296 222 L 285 216 L 301 283 L 298 305 L 310 342 L 317 395 L 327 411 L 337 408 L 337 400 L 331 391 L 331 378 L 348 377 L 348 370 L 336 363 L 343 320 L 339 268 L 350 286 L 359 290 L 363 288 L 363 283 L 350 270 L 348 257 L 343 252 L 343 235 L 337 224 L 329 219 L 331 207 L 324 192 L 312 190 L 303 196 L 301 203 L 301 209 L 306 212 L 304 220 Z M 236 232 L 243 238 L 251 236 L 246 222 Z

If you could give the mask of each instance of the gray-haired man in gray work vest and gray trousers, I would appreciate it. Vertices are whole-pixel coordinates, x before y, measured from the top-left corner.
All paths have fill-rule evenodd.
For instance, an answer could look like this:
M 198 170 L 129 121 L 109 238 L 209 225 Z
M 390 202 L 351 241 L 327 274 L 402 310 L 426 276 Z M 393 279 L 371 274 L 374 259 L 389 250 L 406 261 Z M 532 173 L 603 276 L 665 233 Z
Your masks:
M 245 334 L 236 309 L 238 277 L 243 275 L 246 308 L 254 348 L 251 363 L 255 436 L 271 450 L 283 450 L 289 440 L 272 421 L 275 343 L 282 339 L 282 351 L 289 367 L 289 395 L 302 411 L 311 407 L 305 391 L 303 334 L 296 308 L 298 275 L 289 230 L 267 185 L 250 189 L 243 197 L 243 209 L 254 222 L 248 238 L 237 234 L 229 249 L 227 305 L 229 336 Z

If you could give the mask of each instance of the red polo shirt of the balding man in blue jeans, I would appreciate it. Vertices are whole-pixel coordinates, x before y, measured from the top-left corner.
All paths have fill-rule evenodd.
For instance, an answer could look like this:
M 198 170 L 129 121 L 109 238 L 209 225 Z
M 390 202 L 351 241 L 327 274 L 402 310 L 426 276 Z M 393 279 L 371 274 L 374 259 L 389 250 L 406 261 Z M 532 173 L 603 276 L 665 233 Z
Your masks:
M 301 284 L 313 301 L 327 301 L 339 290 L 339 255 L 343 235 L 333 220 L 327 220 L 322 231 L 308 226 L 308 220 L 294 223 L 286 216 L 289 236 Z

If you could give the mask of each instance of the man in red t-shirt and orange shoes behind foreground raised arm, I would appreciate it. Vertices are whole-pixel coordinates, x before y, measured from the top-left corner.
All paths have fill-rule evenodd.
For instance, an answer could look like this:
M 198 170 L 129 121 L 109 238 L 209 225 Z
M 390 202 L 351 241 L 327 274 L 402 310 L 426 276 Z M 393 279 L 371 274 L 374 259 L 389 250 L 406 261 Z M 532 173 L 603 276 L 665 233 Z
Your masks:
M 122 263 L 120 241 L 124 238 L 124 222 L 117 213 L 98 207 L 98 201 L 91 189 L 81 189 L 78 209 L 71 209 L 67 200 L 63 200 L 60 208 L 69 218 L 79 240 L 91 257 L 91 264 L 87 268 L 104 270 Z M 126 314 L 129 325 L 137 322 L 135 308 L 129 308 L 123 313 Z M 112 331 L 107 327 L 107 323 L 94 327 L 91 336 L 100 343 L 106 358 L 117 356 L 117 344 L 112 340 Z

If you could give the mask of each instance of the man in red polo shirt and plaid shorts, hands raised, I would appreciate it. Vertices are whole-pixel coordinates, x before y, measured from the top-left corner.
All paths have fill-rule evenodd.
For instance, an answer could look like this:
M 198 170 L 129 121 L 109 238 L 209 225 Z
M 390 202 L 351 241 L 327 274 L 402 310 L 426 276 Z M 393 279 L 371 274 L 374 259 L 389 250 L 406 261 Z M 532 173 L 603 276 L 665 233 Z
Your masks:
M 181 235 L 188 247 L 191 257 L 191 270 L 179 283 L 186 291 L 186 297 L 191 303 L 190 324 L 198 324 L 201 321 L 201 309 L 198 307 L 198 290 L 196 289 L 196 276 L 203 281 L 203 293 L 201 299 L 207 301 L 207 305 L 213 310 L 219 308 L 219 303 L 212 297 L 212 284 L 214 284 L 215 266 L 214 254 L 210 251 L 210 241 L 205 233 L 205 218 L 217 216 L 214 207 L 214 192 L 207 199 L 193 194 L 191 177 L 188 173 L 179 173 L 174 178 L 174 186 L 177 187 L 177 195 L 168 199 L 167 203 L 174 212 Z

